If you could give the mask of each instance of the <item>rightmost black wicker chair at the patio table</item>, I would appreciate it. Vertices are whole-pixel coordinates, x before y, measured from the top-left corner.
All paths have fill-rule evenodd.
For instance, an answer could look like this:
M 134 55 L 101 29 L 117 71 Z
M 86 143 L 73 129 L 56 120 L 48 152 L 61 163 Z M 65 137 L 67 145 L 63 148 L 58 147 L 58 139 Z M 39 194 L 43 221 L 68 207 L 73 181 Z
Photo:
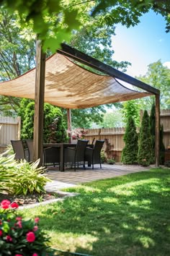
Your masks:
M 92 165 L 93 169 L 94 169 L 95 163 L 99 163 L 100 168 L 102 168 L 100 153 L 101 153 L 103 144 L 104 144 L 104 140 L 96 140 L 94 144 L 94 148 L 86 148 L 85 161 L 88 162 L 88 166 Z

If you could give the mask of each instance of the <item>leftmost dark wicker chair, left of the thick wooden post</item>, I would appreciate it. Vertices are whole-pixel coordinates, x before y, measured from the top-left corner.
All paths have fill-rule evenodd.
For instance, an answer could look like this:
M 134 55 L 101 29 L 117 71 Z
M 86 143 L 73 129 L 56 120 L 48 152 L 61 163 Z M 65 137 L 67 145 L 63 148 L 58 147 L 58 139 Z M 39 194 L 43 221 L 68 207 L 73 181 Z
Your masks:
M 12 143 L 12 148 L 14 150 L 15 153 L 15 157 L 14 159 L 16 160 L 28 160 L 27 156 L 28 156 L 28 150 L 24 149 L 24 145 L 22 140 L 11 140 Z

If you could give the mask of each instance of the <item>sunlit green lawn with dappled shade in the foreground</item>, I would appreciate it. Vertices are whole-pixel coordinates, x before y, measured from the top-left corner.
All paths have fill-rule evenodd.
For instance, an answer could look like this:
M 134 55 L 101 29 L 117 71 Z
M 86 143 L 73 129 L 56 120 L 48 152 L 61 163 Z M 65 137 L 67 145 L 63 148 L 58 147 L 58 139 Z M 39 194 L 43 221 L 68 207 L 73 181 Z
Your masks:
M 40 217 L 53 248 L 97 256 L 169 255 L 169 168 L 65 190 L 80 195 L 24 210 Z

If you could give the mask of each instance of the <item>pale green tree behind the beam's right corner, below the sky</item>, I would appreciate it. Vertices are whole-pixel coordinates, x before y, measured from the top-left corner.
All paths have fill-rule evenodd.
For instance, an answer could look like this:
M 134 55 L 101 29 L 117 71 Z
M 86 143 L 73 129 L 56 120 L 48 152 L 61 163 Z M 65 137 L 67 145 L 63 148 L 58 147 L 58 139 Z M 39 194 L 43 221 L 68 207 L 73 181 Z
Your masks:
M 164 67 L 161 60 L 149 64 L 146 75 L 136 78 L 160 90 L 161 108 L 170 107 L 170 69 Z M 154 101 L 154 96 L 146 97 L 140 100 L 140 105 L 142 108 L 151 109 Z

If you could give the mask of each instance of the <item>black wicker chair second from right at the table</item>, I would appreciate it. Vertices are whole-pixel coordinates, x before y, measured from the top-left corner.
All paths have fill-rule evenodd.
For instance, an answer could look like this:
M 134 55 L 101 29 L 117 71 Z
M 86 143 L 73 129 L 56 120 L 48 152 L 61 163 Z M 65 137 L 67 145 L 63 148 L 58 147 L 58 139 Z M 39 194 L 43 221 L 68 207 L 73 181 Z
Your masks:
M 74 171 L 76 171 L 76 163 L 77 168 L 79 168 L 81 164 L 83 164 L 85 168 L 84 153 L 88 142 L 89 140 L 78 140 L 76 148 L 64 149 L 64 162 L 71 163 L 71 167 L 74 166 Z

